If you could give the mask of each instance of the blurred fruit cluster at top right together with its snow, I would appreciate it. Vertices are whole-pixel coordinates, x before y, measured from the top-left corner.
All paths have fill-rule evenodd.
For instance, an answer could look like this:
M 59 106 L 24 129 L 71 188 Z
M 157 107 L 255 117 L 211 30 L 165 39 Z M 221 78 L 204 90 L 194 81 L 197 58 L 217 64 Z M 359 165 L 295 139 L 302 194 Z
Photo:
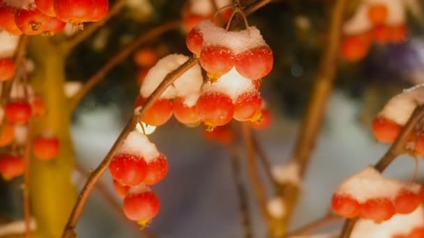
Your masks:
M 407 37 L 401 1 L 364 0 L 352 19 L 345 24 L 341 54 L 347 61 L 360 61 L 367 56 L 371 43 L 400 43 Z

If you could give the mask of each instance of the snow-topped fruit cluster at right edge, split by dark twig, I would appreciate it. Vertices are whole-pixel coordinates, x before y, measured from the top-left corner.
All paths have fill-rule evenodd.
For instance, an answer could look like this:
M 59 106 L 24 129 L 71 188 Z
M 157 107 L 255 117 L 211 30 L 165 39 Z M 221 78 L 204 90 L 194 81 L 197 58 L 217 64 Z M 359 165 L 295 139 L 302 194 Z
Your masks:
M 372 122 L 372 134 L 377 141 L 392 143 L 398 138 L 402 127 L 418 104 L 424 103 L 424 87 L 415 86 L 389 100 Z M 409 135 L 408 148 L 424 157 L 424 134 L 422 127 L 415 127 Z

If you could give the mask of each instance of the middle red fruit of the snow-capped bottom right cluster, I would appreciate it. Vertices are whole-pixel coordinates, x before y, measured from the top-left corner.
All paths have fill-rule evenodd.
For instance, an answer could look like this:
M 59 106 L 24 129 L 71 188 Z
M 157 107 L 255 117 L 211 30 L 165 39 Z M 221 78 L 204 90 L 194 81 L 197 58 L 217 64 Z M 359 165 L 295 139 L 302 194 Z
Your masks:
M 387 198 L 374 198 L 361 204 L 361 215 L 377 223 L 387 221 L 395 214 L 395 206 Z

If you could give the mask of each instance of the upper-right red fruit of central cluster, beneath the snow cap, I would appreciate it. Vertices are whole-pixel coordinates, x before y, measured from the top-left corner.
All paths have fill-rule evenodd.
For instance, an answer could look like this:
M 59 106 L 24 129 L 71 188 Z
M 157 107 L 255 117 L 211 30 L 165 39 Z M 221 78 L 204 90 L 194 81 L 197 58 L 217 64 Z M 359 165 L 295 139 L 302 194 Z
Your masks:
M 268 46 L 249 49 L 236 58 L 237 72 L 248 79 L 261 79 L 268 75 L 273 68 L 273 51 Z

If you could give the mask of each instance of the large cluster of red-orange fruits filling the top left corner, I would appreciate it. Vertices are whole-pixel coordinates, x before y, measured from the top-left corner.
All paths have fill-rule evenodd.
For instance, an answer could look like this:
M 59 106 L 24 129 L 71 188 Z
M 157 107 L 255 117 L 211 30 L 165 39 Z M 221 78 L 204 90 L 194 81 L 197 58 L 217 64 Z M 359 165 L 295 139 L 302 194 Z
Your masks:
M 109 9 L 107 0 L 2 0 L 0 4 L 0 29 L 13 35 L 54 35 L 67 22 L 98 22 Z

